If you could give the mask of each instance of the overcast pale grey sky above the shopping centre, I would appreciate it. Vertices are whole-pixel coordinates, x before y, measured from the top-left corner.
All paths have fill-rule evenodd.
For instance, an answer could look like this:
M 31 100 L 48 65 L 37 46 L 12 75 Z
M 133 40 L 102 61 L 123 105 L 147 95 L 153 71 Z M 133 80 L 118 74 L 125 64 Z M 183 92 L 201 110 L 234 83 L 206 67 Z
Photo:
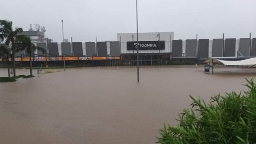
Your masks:
M 136 32 L 135 0 L 2 0 L 0 19 L 28 30 L 46 27 L 62 41 L 116 41 Z M 256 0 L 138 0 L 139 32 L 174 31 L 174 39 L 256 37 Z

